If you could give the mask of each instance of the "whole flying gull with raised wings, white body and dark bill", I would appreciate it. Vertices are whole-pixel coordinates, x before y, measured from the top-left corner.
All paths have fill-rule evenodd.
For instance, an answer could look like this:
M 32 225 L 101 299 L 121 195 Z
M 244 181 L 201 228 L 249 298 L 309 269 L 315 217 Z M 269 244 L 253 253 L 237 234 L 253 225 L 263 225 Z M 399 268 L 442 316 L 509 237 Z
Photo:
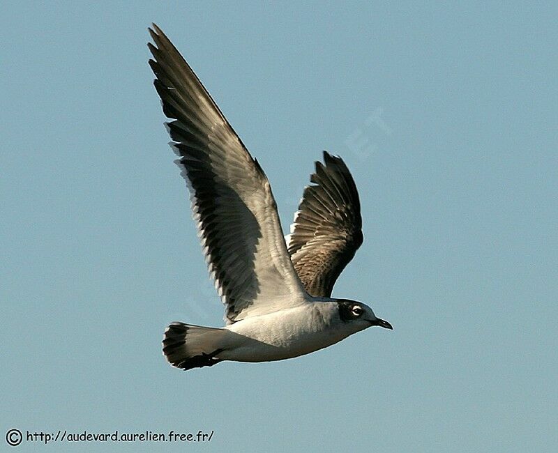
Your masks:
M 282 235 L 269 181 L 197 75 L 153 24 L 149 65 L 225 326 L 174 322 L 163 354 L 174 367 L 223 360 L 268 362 L 312 353 L 360 330 L 392 329 L 368 305 L 331 298 L 335 280 L 363 241 L 359 194 L 345 163 L 324 164 Z M 288 241 L 288 247 L 287 242 Z

